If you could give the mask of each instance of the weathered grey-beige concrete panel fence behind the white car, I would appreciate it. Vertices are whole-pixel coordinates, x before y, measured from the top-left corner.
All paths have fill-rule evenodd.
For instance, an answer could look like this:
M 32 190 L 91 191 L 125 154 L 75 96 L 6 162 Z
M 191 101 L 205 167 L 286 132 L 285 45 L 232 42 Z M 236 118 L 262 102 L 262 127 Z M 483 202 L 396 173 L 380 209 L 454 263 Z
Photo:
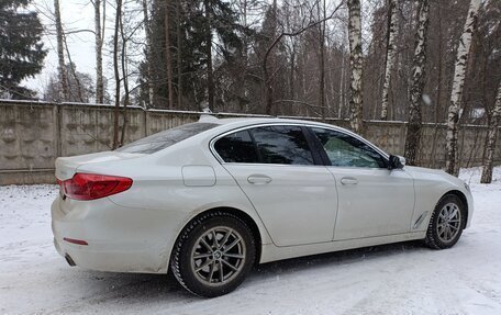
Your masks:
M 130 108 L 126 111 L 125 143 L 194 122 L 200 114 Z M 235 113 L 214 115 L 250 116 Z M 348 126 L 344 120 L 326 119 L 324 122 Z M 433 168 L 444 166 L 445 131 L 442 124 L 424 125 L 420 165 Z M 365 136 L 388 153 L 403 155 L 405 132 L 407 124 L 403 122 L 367 121 Z M 461 126 L 461 166 L 481 164 L 486 133 L 486 126 Z M 0 100 L 0 184 L 52 183 L 55 181 L 54 161 L 57 157 L 109 150 L 112 134 L 113 106 Z M 501 164 L 500 142 L 498 139 L 497 164 Z

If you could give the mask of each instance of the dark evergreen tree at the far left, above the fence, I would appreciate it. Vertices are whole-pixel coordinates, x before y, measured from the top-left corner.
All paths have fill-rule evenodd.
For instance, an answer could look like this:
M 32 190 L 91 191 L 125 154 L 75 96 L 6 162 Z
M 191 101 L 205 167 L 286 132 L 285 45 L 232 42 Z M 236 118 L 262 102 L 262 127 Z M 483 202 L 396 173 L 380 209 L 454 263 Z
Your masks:
M 36 12 L 27 10 L 31 0 L 0 1 L 0 95 L 26 99 L 33 92 L 21 87 L 27 77 L 43 68 L 47 52 L 41 42 L 42 24 Z

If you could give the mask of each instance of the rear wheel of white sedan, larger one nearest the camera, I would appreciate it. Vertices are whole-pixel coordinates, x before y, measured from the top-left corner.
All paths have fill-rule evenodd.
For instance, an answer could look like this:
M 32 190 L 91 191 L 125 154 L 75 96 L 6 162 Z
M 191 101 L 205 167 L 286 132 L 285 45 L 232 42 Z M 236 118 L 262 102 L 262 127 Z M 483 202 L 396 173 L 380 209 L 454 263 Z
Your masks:
M 254 266 L 252 232 L 237 216 L 213 212 L 192 221 L 179 236 L 170 268 L 188 291 L 214 297 L 235 290 Z

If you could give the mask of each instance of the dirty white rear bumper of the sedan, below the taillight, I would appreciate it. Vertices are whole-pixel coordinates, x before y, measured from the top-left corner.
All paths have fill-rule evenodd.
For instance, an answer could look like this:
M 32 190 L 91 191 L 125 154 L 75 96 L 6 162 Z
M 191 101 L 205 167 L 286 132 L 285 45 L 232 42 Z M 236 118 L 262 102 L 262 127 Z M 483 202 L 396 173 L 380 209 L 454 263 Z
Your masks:
M 167 224 L 159 224 L 165 222 L 164 214 L 121 207 L 108 199 L 79 202 L 57 198 L 52 204 L 54 245 L 70 265 L 85 269 L 166 273 L 175 240 L 169 234 L 175 234 Z

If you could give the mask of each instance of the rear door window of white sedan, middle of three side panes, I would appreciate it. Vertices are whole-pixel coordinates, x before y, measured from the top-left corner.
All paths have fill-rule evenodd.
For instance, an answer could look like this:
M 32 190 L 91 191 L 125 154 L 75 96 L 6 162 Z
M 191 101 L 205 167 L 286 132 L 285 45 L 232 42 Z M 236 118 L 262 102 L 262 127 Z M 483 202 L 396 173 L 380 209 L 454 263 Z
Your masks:
M 300 126 L 253 128 L 263 164 L 313 165 L 313 156 Z

